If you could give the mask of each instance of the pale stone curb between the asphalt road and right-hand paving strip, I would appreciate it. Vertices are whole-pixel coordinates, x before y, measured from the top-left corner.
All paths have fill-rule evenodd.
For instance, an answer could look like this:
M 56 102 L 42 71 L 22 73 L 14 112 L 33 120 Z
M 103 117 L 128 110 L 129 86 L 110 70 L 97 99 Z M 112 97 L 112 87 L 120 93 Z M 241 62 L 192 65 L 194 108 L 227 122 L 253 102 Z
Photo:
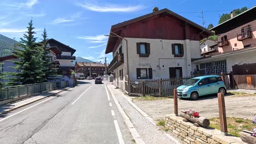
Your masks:
M 139 135 L 138 131 L 136 130 L 136 128 L 132 124 L 130 118 L 126 115 L 125 111 L 123 110 L 123 108 L 119 104 L 118 100 L 115 99 L 112 89 L 110 89 L 109 86 L 107 86 L 107 87 L 108 87 L 108 90 L 109 90 L 109 92 L 110 92 L 110 94 L 111 94 L 111 96 L 112 96 L 112 98 L 113 98 L 113 100 L 115 102 L 115 105 L 117 105 L 117 108 L 118 108 L 119 112 L 123 116 L 125 124 L 127 125 L 128 129 L 129 129 L 129 131 L 130 131 L 130 133 L 131 133 L 131 135 L 133 137 L 133 139 L 138 144 L 145 144 L 145 142 L 141 139 L 141 136 Z

